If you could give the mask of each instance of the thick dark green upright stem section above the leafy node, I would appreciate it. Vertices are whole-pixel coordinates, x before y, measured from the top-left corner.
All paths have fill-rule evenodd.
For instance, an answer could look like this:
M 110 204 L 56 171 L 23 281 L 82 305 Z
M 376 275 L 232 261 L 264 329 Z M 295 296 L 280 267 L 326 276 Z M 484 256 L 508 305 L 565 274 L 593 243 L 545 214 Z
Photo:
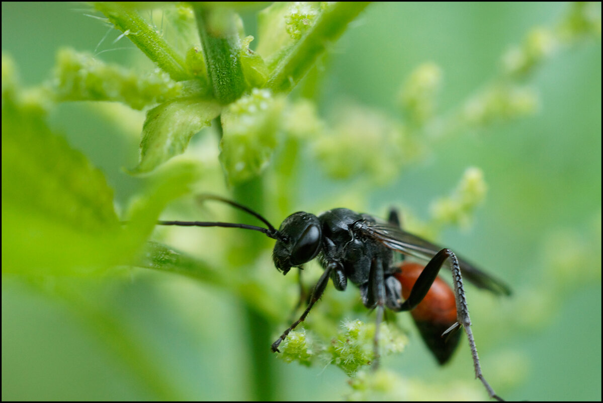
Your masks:
M 230 8 L 195 7 L 195 17 L 213 95 L 220 103 L 235 101 L 245 90 L 241 41 L 236 14 Z

